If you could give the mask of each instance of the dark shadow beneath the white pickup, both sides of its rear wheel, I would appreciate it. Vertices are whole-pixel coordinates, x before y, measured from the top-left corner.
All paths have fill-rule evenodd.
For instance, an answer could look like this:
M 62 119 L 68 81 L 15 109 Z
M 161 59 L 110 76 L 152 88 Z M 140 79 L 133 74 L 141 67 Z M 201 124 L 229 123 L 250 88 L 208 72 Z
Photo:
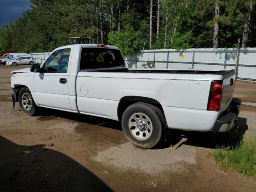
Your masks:
M 75 120 L 82 123 L 100 125 L 106 128 L 115 130 L 122 130 L 120 122 L 99 118 L 95 116 L 73 114 L 58 110 L 48 110 L 45 114 L 52 114 L 52 116 L 41 116 L 40 119 L 62 117 L 70 120 Z M 217 146 L 230 146 L 235 147 L 236 144 L 242 139 L 244 133 L 248 129 L 246 118 L 238 118 L 238 127 L 226 133 L 212 133 L 212 132 L 188 132 L 182 130 L 172 130 L 166 137 L 166 141 L 162 142 L 153 149 L 168 148 L 171 145 L 177 150 L 183 144 L 191 146 L 199 146 L 204 148 L 216 148 Z M 182 139 L 186 141 L 181 142 Z

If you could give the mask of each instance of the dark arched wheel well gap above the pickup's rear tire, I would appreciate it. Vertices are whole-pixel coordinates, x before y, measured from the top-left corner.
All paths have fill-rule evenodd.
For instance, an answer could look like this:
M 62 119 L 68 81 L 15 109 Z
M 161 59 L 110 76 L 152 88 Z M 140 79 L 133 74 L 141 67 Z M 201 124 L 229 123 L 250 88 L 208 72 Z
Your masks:
M 125 96 L 120 99 L 120 102 L 118 104 L 118 120 L 122 119 L 124 110 L 131 104 L 137 103 L 137 102 L 144 102 L 144 103 L 149 103 L 152 104 L 156 107 L 158 107 L 164 114 L 164 110 L 162 108 L 162 105 L 155 99 L 148 98 L 148 97 L 141 97 L 141 96 Z

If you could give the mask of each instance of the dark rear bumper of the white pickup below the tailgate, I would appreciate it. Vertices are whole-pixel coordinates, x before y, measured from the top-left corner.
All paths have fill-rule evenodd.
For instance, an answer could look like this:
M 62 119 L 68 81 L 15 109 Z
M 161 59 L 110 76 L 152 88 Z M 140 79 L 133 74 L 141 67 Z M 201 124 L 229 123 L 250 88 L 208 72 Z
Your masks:
M 229 108 L 215 122 L 212 132 L 228 132 L 237 122 L 241 99 L 233 98 Z

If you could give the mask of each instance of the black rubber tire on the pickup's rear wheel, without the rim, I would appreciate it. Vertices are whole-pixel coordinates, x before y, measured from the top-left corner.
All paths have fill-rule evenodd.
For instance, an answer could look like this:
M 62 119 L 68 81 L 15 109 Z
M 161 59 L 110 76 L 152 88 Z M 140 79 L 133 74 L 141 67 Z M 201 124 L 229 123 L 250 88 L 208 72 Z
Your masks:
M 136 138 L 128 126 L 130 118 L 136 113 L 145 114 L 152 122 L 152 133 L 146 140 Z M 138 102 L 130 105 L 124 111 L 122 116 L 122 129 L 124 135 L 132 144 L 142 148 L 152 148 L 164 138 L 164 122 L 164 114 L 159 108 L 148 103 Z

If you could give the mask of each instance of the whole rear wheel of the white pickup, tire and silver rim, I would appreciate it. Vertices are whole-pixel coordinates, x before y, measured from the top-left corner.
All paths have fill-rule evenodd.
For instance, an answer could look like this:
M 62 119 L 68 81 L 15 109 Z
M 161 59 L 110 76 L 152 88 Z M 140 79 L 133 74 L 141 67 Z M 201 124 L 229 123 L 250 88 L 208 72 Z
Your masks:
M 154 105 L 134 103 L 124 111 L 122 129 L 132 144 L 152 148 L 164 137 L 164 114 Z

